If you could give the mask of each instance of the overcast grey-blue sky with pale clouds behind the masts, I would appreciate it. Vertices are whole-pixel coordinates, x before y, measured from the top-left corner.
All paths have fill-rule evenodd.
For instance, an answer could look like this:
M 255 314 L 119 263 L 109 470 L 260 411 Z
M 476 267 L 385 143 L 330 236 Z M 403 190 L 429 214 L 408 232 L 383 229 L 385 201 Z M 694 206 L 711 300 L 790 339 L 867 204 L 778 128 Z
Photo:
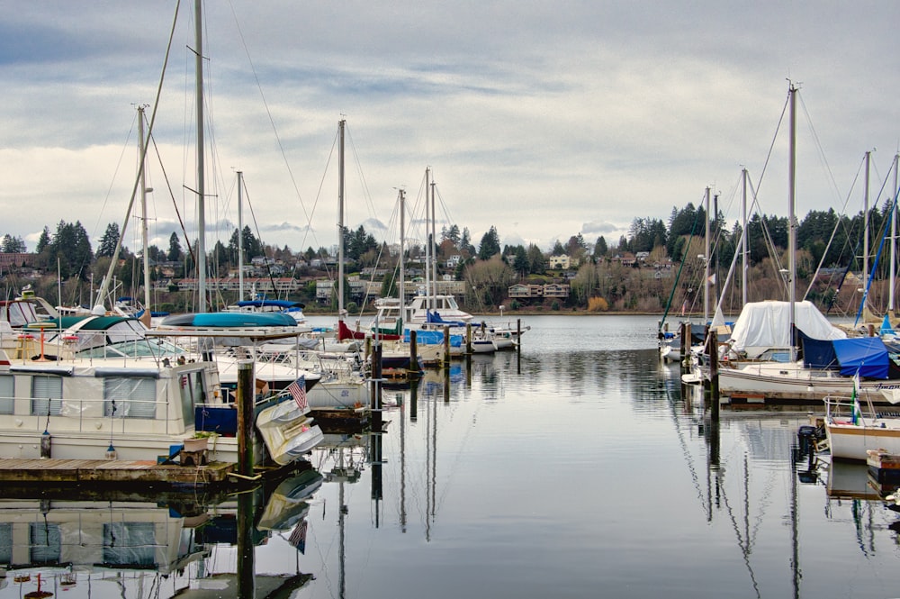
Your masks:
M 0 7 L 0 234 L 33 250 L 44 226 L 80 221 L 95 245 L 124 221 L 135 106 L 153 110 L 173 23 L 148 229 L 163 249 L 178 213 L 195 231 L 193 2 L 177 19 L 174 1 Z M 204 14 L 208 246 L 238 222 L 237 170 L 263 241 L 333 244 L 341 118 L 345 222 L 379 241 L 399 237 L 399 188 L 417 237 L 426 168 L 437 229 L 476 245 L 491 226 L 545 249 L 577 233 L 616 242 L 707 186 L 734 222 L 744 167 L 761 210 L 784 215 L 788 79 L 798 215 L 860 211 L 867 150 L 870 201 L 894 185 L 896 2 L 222 0 Z

